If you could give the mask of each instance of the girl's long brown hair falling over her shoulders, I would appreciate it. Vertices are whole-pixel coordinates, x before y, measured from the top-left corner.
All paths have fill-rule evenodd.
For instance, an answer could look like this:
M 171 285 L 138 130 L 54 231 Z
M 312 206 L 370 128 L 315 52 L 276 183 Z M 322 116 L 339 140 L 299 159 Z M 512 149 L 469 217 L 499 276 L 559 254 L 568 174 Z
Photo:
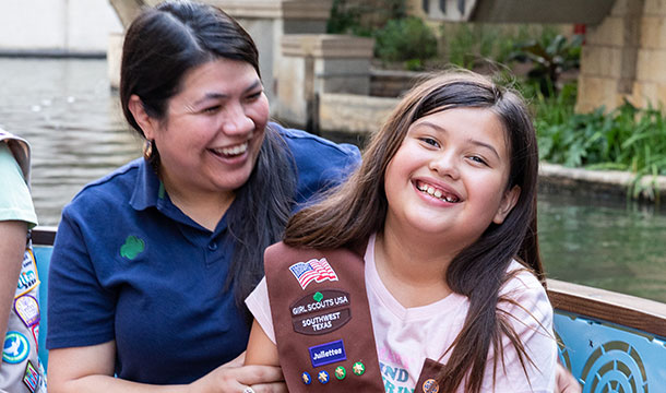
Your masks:
M 495 112 L 506 133 L 510 162 L 507 190 L 520 187 L 520 196 L 501 225 L 491 223 L 463 249 L 447 270 L 449 287 L 469 299 L 464 326 L 454 341 L 451 357 L 439 376 L 442 392 L 453 392 L 468 377 L 465 392 L 479 392 L 490 345 L 495 366 L 502 358 L 501 336 L 515 346 L 520 361 L 531 361 L 509 322 L 498 308 L 499 291 L 508 279 L 513 259 L 538 277 L 543 275 L 536 235 L 536 181 L 538 151 L 534 126 L 521 96 L 472 72 L 448 72 L 415 86 L 372 136 L 361 166 L 319 204 L 297 213 L 287 223 L 284 242 L 320 249 L 358 249 L 359 241 L 383 229 L 388 202 L 386 166 L 416 120 L 452 108 L 484 108 Z M 443 354 L 442 354 L 443 356 Z

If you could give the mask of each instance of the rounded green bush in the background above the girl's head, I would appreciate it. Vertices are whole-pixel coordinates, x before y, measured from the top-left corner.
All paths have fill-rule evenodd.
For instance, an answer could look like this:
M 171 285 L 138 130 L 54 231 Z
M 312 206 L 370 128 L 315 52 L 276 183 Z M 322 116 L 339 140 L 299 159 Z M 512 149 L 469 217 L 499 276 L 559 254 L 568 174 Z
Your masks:
M 390 20 L 374 34 L 374 53 L 383 61 L 423 61 L 437 55 L 437 38 L 424 21 L 409 16 Z

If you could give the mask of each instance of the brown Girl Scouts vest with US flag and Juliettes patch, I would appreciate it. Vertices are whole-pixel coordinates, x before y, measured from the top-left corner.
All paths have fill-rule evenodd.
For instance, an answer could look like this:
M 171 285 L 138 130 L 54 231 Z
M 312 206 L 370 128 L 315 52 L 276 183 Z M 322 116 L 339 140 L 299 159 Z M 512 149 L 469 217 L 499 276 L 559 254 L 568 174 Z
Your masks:
M 384 392 L 361 255 L 282 242 L 266 249 L 275 341 L 289 392 Z M 437 393 L 441 367 L 426 359 L 415 392 Z

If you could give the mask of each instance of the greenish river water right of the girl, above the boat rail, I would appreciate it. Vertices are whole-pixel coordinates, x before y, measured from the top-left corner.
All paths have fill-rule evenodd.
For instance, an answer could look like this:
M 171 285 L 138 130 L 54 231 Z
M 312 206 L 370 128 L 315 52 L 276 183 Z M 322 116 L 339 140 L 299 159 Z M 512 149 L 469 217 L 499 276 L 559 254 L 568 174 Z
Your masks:
M 539 195 L 548 277 L 666 302 L 666 213 L 626 201 Z

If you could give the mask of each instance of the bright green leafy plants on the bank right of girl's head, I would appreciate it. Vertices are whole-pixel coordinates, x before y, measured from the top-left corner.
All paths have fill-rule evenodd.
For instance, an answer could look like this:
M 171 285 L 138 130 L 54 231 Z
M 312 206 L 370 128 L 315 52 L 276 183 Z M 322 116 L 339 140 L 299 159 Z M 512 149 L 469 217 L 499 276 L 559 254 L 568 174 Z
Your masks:
M 666 175 L 666 117 L 652 106 L 640 109 L 629 102 L 605 114 L 574 114 L 575 88 L 567 85 L 557 97 L 537 93 L 536 112 L 540 158 L 588 169 L 617 169 L 637 174 L 630 192 L 654 198 L 646 176 Z

